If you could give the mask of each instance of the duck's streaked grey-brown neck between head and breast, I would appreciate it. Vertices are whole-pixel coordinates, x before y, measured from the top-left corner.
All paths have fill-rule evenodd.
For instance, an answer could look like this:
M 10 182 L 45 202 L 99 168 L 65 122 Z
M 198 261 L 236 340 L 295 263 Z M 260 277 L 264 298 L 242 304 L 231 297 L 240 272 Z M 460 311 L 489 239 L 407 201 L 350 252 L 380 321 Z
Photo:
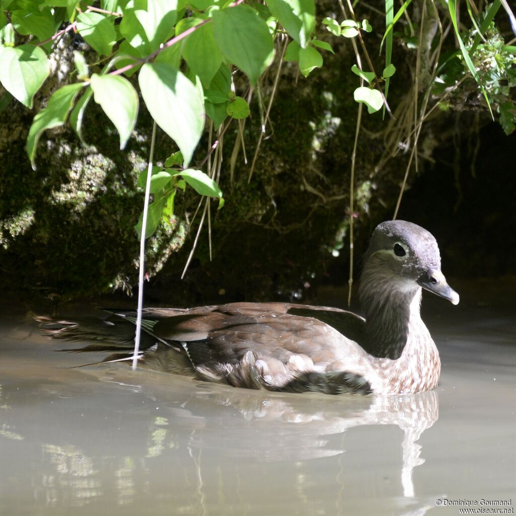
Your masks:
M 421 287 L 403 288 L 364 271 L 359 294 L 366 319 L 363 348 L 375 357 L 399 359 L 407 352 L 411 328 L 423 325 Z

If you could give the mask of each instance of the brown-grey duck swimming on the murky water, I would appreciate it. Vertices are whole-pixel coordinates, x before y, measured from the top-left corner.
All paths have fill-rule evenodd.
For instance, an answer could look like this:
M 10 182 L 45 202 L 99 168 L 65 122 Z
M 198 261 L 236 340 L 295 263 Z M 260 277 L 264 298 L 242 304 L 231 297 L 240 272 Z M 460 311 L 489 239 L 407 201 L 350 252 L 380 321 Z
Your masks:
M 434 389 L 439 352 L 420 317 L 422 287 L 452 302 L 436 240 L 415 224 L 384 222 L 366 255 L 360 298 L 366 318 L 289 303 L 229 303 L 144 311 L 139 357 L 154 370 L 247 389 L 326 394 L 412 394 Z M 94 325 L 44 322 L 82 350 L 131 358 L 134 312 Z M 77 350 L 74 350 L 77 351 Z

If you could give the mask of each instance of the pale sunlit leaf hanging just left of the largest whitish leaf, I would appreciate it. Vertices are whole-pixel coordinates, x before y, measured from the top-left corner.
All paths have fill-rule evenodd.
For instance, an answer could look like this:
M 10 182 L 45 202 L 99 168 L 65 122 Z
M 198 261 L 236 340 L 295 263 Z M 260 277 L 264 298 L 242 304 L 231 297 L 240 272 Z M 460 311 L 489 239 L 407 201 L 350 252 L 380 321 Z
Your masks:
M 102 106 L 120 134 L 120 150 L 122 150 L 131 137 L 138 118 L 138 93 L 133 85 L 120 75 L 95 73 L 91 76 L 90 84 L 95 102 Z

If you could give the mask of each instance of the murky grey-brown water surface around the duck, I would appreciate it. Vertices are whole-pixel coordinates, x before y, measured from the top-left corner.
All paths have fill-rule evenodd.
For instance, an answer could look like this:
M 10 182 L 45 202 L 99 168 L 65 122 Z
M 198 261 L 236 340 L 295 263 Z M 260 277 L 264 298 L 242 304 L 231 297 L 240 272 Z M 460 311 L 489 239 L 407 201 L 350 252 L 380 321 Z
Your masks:
M 57 353 L 21 312 L 4 317 L 0 514 L 459 514 L 436 505 L 445 497 L 514 508 L 513 301 L 425 296 L 441 383 L 389 398 L 73 369 L 99 355 Z

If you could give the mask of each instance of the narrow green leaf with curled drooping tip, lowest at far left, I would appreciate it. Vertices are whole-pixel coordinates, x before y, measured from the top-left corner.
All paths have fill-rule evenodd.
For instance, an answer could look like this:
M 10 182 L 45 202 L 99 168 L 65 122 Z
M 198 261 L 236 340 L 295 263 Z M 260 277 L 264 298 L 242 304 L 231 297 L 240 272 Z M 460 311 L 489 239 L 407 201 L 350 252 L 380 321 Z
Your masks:
M 72 109 L 73 101 L 79 90 L 83 87 L 81 83 L 69 84 L 59 88 L 52 93 L 49 103 L 35 117 L 27 136 L 27 154 L 33 169 L 36 169 L 35 156 L 38 140 L 45 129 L 59 127 L 66 122 L 68 113 Z

